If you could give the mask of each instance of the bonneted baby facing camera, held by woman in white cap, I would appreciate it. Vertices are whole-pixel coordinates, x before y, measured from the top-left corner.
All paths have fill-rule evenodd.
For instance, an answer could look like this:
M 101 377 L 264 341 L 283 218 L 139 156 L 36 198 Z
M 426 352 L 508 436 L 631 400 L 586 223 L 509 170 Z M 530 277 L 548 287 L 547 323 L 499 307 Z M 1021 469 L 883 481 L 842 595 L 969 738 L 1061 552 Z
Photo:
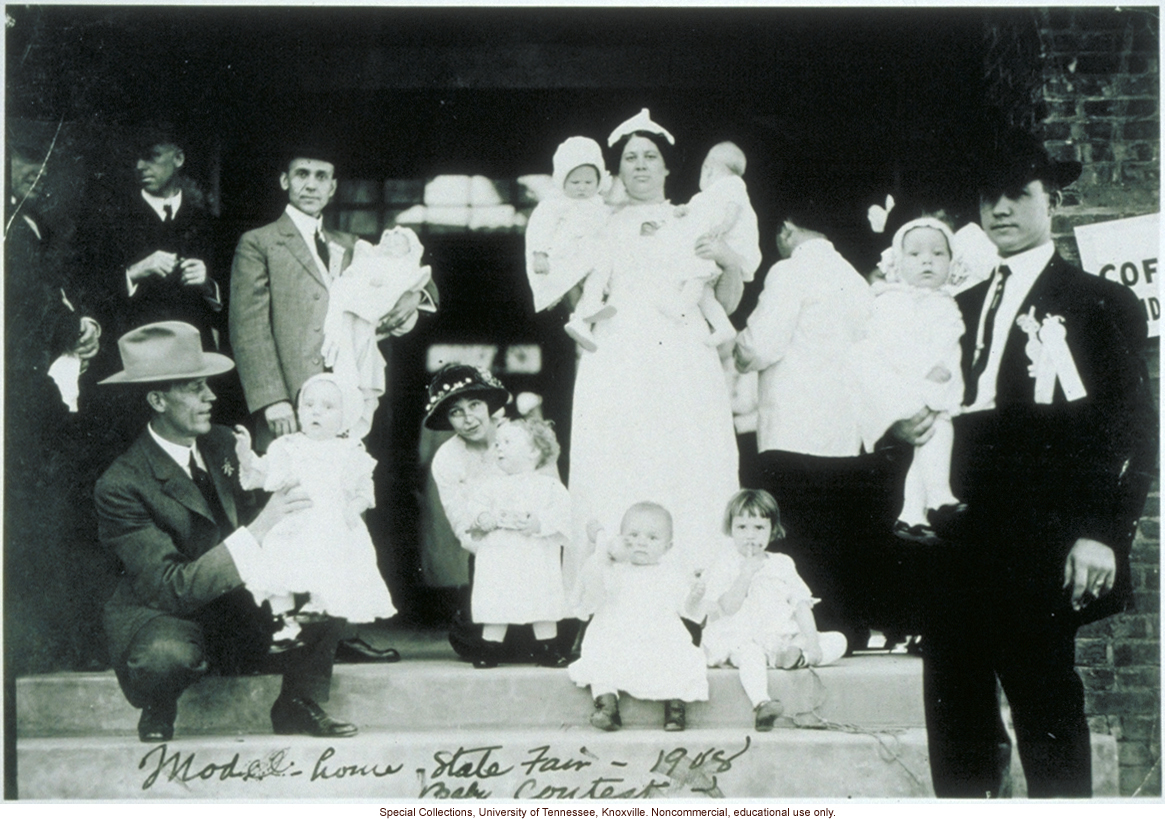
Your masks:
M 610 270 L 599 241 L 609 213 L 601 196 L 607 177 L 602 149 L 594 140 L 572 136 L 558 146 L 553 163 L 553 196 L 538 203 L 525 227 L 527 277 L 535 311 L 553 306 L 584 283 L 566 332 L 593 352 L 591 325 L 615 314 L 603 304 Z

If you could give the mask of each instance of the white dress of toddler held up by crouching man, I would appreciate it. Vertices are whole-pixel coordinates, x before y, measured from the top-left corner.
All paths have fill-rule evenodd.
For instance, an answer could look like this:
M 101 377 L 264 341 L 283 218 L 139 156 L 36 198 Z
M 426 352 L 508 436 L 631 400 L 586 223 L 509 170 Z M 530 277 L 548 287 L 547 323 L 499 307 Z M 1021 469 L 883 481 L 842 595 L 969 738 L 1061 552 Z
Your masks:
M 292 479 L 312 506 L 291 512 L 271 528 L 262 543 L 266 558 L 242 580 L 256 602 L 288 593 L 309 593 L 303 612 L 327 613 L 353 623 L 396 614 L 376 568 L 376 551 L 363 519 L 350 528 L 345 516 L 355 495 L 374 501 L 375 459 L 356 439 L 316 441 L 303 433 L 281 436 L 267 455 L 242 467 L 245 489 L 274 492 Z

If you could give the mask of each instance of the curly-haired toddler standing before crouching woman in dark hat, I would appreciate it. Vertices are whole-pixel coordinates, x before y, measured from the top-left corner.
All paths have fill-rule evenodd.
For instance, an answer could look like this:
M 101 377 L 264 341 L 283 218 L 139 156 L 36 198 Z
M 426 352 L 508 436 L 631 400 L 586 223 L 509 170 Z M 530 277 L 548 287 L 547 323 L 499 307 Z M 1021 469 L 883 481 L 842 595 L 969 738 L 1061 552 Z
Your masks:
M 511 623 L 532 623 L 539 666 L 567 664 L 556 648 L 566 616 L 562 552 L 571 528 L 571 496 L 562 481 L 539 473 L 558 459 L 553 427 L 542 419 L 507 422 L 494 438 L 503 475 L 471 489 L 468 538 L 475 554 L 471 609 L 481 637 L 501 646 Z M 497 662 L 483 657 L 478 669 Z

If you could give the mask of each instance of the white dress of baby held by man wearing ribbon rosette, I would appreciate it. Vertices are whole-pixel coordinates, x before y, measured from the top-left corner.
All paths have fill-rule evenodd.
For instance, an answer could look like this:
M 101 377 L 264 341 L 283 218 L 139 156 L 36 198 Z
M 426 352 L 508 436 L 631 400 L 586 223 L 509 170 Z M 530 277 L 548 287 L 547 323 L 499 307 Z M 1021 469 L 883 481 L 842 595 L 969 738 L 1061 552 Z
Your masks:
M 862 396 L 862 438 L 873 450 L 887 429 L 923 407 L 956 412 L 962 403 L 962 314 L 944 290 L 876 283 L 866 339 L 854 348 Z M 926 374 L 940 365 L 947 382 Z

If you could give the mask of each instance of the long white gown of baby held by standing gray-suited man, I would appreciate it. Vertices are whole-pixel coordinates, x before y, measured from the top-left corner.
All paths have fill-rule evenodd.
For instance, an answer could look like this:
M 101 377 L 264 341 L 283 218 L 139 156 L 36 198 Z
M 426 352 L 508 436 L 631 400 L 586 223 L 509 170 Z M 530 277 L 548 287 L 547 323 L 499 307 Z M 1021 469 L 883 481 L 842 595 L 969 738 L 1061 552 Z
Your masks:
M 386 389 L 384 356 L 376 344 L 376 325 L 404 294 L 421 290 L 431 278 L 429 266 L 421 264 L 424 248 L 416 234 L 396 229 L 410 235 L 407 255 L 389 256 L 379 246 L 358 240 L 352 263 L 332 282 L 327 294 L 324 347 L 337 347 L 332 372 L 359 387 L 365 400 L 360 420 L 350 431 L 356 439 L 372 430 L 372 417 Z

